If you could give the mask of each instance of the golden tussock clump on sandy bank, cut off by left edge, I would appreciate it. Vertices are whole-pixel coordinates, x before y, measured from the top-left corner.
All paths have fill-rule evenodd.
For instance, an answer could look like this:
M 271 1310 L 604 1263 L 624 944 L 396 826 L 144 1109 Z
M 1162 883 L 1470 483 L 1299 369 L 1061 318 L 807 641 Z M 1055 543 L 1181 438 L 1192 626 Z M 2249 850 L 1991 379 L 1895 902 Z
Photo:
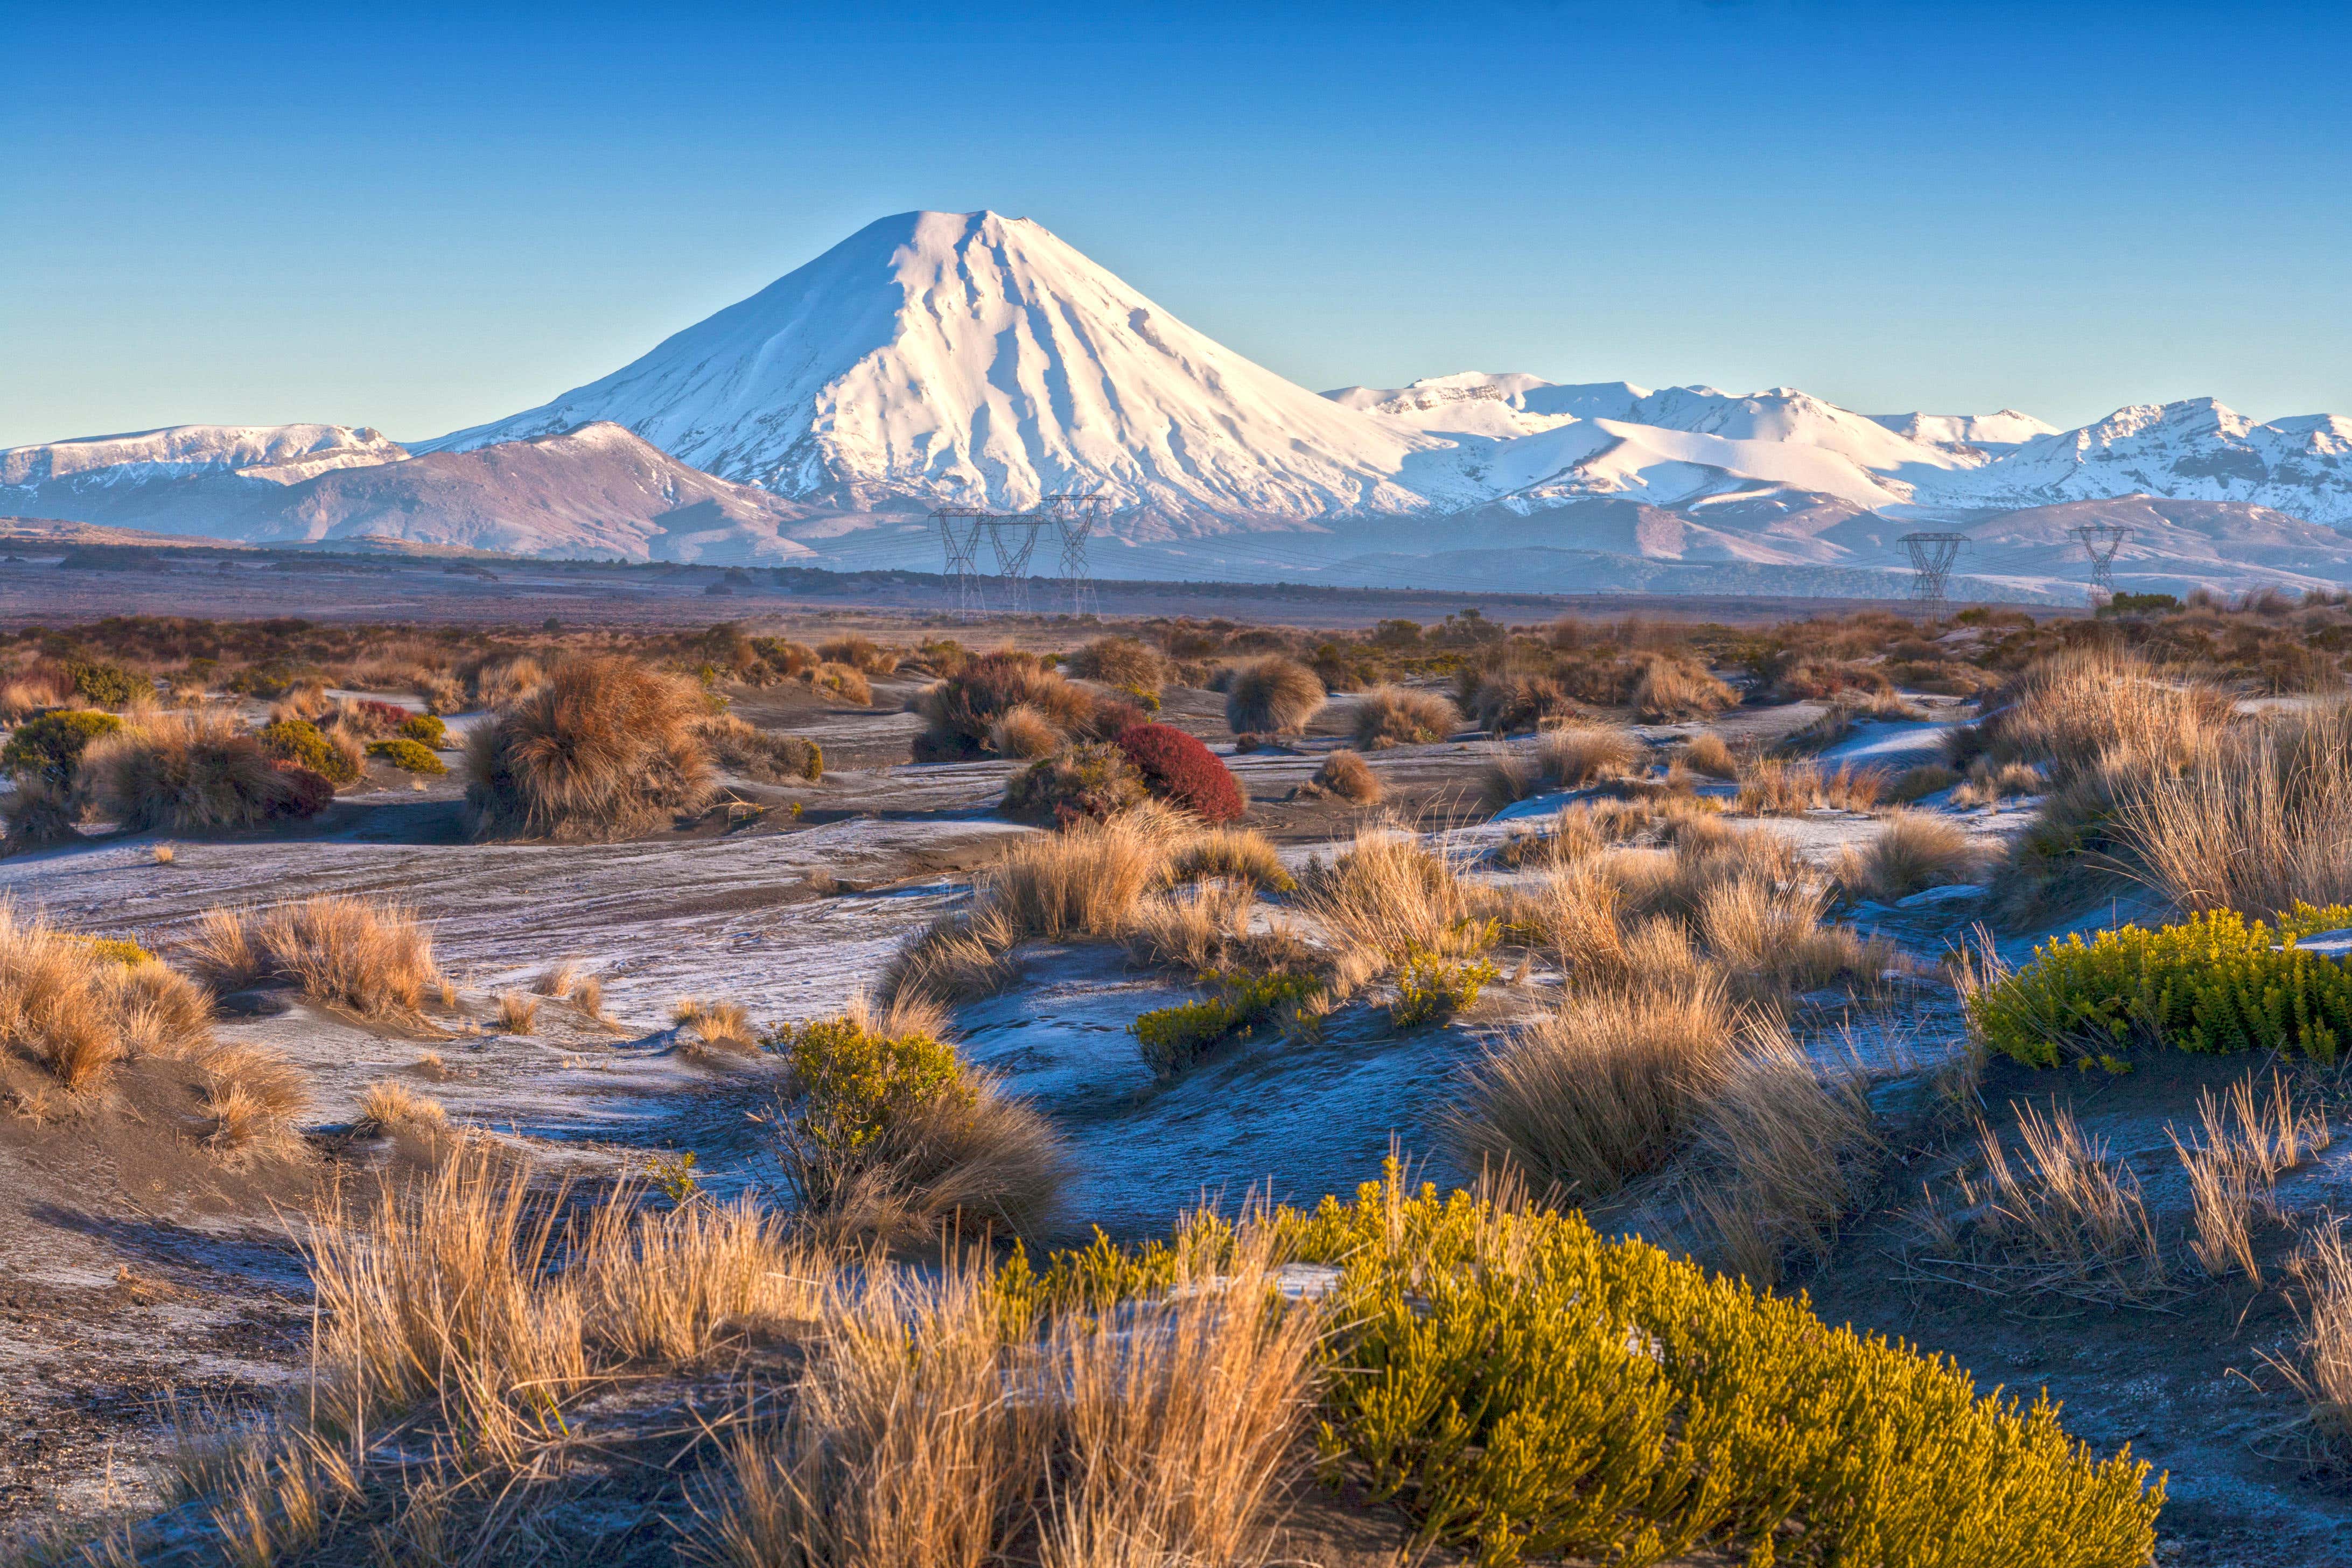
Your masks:
M 127 959 L 0 903 L 0 1048 L 66 1093 L 103 1088 L 132 1056 L 193 1056 L 209 1046 L 209 999 L 153 957 Z

